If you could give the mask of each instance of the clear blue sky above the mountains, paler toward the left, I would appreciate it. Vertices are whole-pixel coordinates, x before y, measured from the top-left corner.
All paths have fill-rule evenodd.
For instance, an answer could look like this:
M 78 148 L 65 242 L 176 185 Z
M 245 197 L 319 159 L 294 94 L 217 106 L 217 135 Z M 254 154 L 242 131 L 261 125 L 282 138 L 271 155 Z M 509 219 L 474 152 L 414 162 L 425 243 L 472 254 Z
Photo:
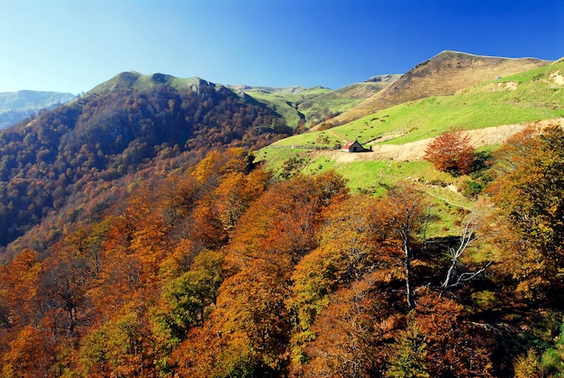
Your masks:
M 0 92 L 119 72 L 341 88 L 443 50 L 564 56 L 563 0 L 0 0 Z

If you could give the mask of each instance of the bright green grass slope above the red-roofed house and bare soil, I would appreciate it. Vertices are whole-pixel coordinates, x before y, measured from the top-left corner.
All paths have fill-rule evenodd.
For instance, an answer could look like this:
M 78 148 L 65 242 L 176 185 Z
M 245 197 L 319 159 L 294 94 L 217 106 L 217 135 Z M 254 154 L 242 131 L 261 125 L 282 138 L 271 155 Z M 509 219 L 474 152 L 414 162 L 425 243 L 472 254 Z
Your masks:
M 284 139 L 274 147 L 332 147 L 352 139 L 379 142 L 381 137 L 387 139 L 381 143 L 399 144 L 436 136 L 452 128 L 469 130 L 558 118 L 564 116 L 560 72 L 564 72 L 563 61 L 489 80 L 453 96 L 428 97 L 393 106 L 331 130 Z

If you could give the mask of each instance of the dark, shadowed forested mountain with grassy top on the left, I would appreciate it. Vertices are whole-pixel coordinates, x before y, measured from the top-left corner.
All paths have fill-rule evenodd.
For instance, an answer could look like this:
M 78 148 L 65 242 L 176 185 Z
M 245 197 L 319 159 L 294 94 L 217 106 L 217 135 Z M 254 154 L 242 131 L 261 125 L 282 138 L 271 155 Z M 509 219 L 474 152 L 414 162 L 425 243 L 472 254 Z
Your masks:
M 77 207 L 85 185 L 119 180 L 156 158 L 197 161 L 211 150 L 258 149 L 289 134 L 284 119 L 224 86 L 123 72 L 0 132 L 0 246 L 53 211 Z

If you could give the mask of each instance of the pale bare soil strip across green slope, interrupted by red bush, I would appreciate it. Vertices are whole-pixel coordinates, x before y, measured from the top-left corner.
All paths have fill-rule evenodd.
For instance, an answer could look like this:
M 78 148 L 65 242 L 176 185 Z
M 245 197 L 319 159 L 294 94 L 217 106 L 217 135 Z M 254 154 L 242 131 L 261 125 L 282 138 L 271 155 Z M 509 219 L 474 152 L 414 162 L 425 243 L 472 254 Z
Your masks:
M 505 124 L 496 127 L 487 127 L 485 129 L 468 130 L 466 133 L 470 137 L 470 143 L 475 148 L 504 143 L 510 136 L 522 131 L 527 126 L 532 126 L 539 131 L 548 126 L 549 124 L 559 124 L 564 127 L 564 118 L 557 118 L 553 120 L 537 121 L 525 124 Z M 418 161 L 423 160 L 427 145 L 432 142 L 434 138 L 424 139 L 413 143 L 405 144 L 378 144 L 372 146 L 372 152 L 342 152 L 342 151 L 320 151 L 323 155 L 329 156 L 332 160 L 337 162 L 352 162 L 352 161 Z

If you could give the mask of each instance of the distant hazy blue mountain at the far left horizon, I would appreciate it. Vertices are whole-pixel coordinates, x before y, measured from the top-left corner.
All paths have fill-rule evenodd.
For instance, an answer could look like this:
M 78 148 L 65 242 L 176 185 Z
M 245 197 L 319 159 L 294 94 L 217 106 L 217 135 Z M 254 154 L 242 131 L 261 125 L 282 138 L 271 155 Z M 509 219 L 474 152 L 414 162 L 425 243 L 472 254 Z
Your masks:
M 74 99 L 70 93 L 20 90 L 0 92 L 0 129 L 17 124 L 41 110 L 52 109 Z

